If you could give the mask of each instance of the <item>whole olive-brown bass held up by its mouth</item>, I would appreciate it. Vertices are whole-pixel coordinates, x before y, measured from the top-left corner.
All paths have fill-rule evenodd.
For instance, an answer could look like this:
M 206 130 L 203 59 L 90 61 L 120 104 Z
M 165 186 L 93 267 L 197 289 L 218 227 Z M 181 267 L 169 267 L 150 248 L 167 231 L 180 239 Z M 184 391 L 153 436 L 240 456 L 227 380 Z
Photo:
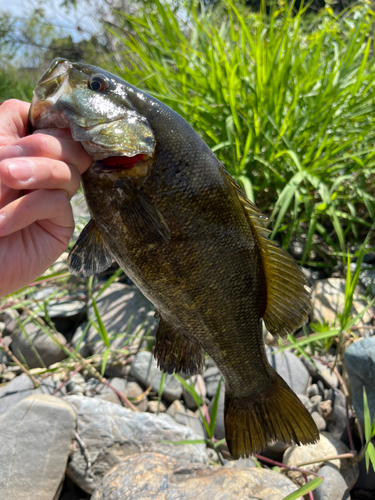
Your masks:
M 119 264 L 155 306 L 161 370 L 193 375 L 205 353 L 213 359 L 225 381 L 231 455 L 274 440 L 316 442 L 313 419 L 268 362 L 262 336 L 262 321 L 282 338 L 306 322 L 306 279 L 197 132 L 118 76 L 67 59 L 38 82 L 29 123 L 69 127 L 93 159 L 82 175 L 91 220 L 70 252 L 71 272 Z

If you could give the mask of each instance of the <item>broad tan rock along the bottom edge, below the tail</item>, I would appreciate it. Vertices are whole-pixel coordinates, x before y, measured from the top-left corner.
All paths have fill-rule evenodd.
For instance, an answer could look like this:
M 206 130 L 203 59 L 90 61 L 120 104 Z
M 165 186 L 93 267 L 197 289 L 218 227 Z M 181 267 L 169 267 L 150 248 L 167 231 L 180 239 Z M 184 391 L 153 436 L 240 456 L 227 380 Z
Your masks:
M 282 500 L 297 487 L 266 469 L 202 466 L 158 453 L 127 457 L 104 477 L 91 500 Z

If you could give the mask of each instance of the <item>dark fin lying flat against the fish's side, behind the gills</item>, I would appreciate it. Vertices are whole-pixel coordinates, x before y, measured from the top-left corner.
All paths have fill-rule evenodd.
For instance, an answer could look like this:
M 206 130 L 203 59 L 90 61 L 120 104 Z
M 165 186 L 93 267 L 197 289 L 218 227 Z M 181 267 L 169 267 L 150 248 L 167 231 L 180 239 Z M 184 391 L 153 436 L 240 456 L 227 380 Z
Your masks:
M 163 215 L 152 202 L 130 181 L 118 181 L 116 189 L 121 192 L 121 203 L 116 203 L 121 218 L 129 233 L 145 243 L 166 243 L 170 231 Z

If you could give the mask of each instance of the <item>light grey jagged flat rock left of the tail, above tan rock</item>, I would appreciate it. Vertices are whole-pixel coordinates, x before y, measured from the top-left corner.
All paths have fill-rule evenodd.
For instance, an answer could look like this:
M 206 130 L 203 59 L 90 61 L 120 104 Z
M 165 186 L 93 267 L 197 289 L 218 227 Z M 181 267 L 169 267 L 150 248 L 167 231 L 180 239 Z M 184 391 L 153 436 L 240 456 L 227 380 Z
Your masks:
M 88 471 L 81 448 L 75 442 L 67 474 L 87 493 L 99 487 L 103 475 L 114 465 L 134 453 L 158 451 L 182 462 L 208 462 L 204 445 L 164 442 L 199 439 L 169 415 L 137 413 L 95 398 L 66 396 L 65 400 L 76 411 L 77 432 L 92 461 Z

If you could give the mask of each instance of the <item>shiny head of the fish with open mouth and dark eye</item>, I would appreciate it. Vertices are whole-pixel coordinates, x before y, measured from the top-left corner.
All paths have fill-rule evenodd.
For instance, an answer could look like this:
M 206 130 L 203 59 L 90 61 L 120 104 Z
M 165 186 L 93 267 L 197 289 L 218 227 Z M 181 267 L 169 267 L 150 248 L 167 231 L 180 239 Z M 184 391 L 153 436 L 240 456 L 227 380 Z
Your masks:
M 139 158 L 147 163 L 156 141 L 129 99 L 128 86 L 95 66 L 54 59 L 34 90 L 30 129 L 69 127 L 94 161 L 110 158 L 112 171 L 127 159 L 129 164 Z

